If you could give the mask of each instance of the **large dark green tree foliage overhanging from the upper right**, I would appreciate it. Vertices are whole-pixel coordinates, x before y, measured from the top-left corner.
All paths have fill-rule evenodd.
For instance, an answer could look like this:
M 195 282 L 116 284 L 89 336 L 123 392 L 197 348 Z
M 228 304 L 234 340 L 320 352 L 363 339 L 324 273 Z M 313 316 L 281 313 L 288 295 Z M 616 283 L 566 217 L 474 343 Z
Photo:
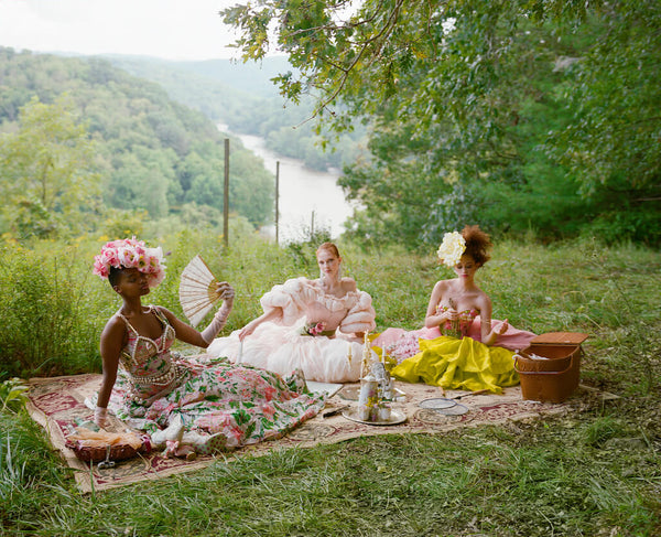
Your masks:
M 661 241 L 659 4 L 258 0 L 224 11 L 243 58 L 371 159 L 345 170 L 354 233 L 436 241 L 478 222 L 544 238 Z M 338 106 L 342 103 L 342 107 Z

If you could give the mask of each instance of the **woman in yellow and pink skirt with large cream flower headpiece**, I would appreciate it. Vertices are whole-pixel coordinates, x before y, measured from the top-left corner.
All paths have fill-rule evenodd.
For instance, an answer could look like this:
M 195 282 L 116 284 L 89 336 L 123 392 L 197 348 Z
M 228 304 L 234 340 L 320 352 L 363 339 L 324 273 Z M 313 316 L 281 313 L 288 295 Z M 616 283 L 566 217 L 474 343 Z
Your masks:
M 438 259 L 454 269 L 456 278 L 434 286 L 425 327 L 408 333 L 388 329 L 372 342 L 399 362 L 393 376 L 496 393 L 519 383 L 512 351 L 528 346 L 535 334 L 511 327 L 507 319 L 491 319 L 491 300 L 475 282 L 477 270 L 489 260 L 490 247 L 479 226 L 445 234 Z

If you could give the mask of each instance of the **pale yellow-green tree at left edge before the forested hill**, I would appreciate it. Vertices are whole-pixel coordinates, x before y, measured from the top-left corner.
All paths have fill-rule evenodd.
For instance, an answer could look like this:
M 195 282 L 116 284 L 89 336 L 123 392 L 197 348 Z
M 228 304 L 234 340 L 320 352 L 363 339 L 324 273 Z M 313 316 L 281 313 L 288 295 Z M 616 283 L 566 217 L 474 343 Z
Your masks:
M 72 105 L 66 96 L 53 105 L 33 98 L 17 130 L 0 138 L 2 227 L 21 237 L 85 230 L 98 211 L 95 143 Z

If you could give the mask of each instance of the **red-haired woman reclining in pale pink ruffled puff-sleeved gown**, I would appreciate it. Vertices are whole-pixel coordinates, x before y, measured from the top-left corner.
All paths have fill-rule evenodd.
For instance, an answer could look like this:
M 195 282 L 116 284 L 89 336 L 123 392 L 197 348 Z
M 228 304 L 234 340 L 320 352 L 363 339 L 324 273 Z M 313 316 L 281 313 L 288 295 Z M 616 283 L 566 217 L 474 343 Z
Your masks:
M 340 276 L 337 247 L 316 251 L 321 277 L 294 278 L 273 287 L 260 302 L 262 315 L 207 353 L 279 374 L 301 369 L 307 380 L 356 382 L 360 377 L 365 332 L 376 327 L 371 297 Z

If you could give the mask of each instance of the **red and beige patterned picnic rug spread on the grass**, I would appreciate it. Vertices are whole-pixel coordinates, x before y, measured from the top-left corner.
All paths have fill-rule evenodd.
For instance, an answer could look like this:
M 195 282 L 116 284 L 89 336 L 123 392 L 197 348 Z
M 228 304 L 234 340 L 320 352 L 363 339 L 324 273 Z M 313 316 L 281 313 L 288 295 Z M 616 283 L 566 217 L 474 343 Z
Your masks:
M 32 418 L 44 427 L 53 447 L 62 453 L 66 463 L 74 470 L 76 483 L 83 492 L 102 491 L 139 481 L 188 472 L 205 468 L 214 461 L 230 463 L 235 458 L 259 457 L 279 449 L 308 448 L 319 443 L 335 443 L 375 434 L 438 433 L 459 427 L 534 419 L 544 415 L 568 411 L 572 408 L 572 401 L 581 398 L 582 395 L 579 388 L 567 401 L 554 405 L 522 400 L 519 386 L 506 388 L 502 395 L 468 395 L 460 391 L 447 391 L 445 397 L 458 395 L 464 395 L 464 397 L 458 401 L 459 405 L 453 407 L 454 410 L 451 408 L 440 411 L 420 406 L 423 400 L 441 397 L 443 394 L 440 388 L 423 384 L 395 383 L 395 388 L 403 395 L 400 396 L 401 400 L 392 406 L 392 423 L 375 426 L 349 419 L 356 418 L 353 409 L 357 405 L 355 398 L 357 398 L 359 386 L 356 384 L 345 385 L 328 399 L 322 414 L 281 439 L 247 447 L 231 453 L 199 457 L 191 462 L 182 459 L 165 459 L 160 452 L 140 453 L 132 459 L 118 461 L 113 468 L 99 469 L 98 464 L 86 463 L 77 459 L 74 452 L 66 448 L 65 440 L 76 427 L 77 419 L 93 418 L 93 411 L 85 406 L 84 400 L 98 390 L 100 380 L 101 376 L 98 374 L 30 380 L 28 410 Z M 339 414 L 324 417 L 324 414 L 345 406 L 347 408 Z M 441 414 L 442 411 L 451 414 Z M 394 423 L 394 421 L 401 422 Z M 118 431 L 122 430 L 119 421 L 116 421 L 115 427 Z

